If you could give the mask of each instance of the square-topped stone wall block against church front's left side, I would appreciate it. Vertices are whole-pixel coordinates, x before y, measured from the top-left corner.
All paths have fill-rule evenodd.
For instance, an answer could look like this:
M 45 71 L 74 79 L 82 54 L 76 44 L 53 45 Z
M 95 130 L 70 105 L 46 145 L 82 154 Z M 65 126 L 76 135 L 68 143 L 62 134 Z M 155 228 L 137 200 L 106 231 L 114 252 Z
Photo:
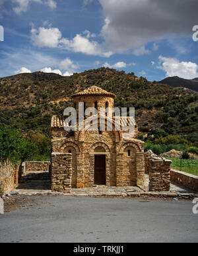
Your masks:
M 55 192 L 71 192 L 72 154 L 51 154 L 51 190 Z

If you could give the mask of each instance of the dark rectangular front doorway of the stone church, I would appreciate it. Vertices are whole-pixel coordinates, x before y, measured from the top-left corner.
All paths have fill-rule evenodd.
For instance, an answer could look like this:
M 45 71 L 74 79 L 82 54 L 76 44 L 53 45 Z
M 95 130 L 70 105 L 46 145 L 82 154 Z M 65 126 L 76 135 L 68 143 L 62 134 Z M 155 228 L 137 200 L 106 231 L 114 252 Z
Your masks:
M 106 185 L 106 155 L 94 155 L 94 184 Z

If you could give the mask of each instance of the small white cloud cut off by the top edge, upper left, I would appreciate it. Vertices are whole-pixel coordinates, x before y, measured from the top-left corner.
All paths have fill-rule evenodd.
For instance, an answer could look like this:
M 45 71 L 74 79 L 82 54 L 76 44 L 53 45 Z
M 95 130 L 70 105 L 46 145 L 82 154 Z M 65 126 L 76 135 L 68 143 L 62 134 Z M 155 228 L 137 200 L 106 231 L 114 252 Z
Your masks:
M 57 7 L 57 3 L 54 0 L 12 0 L 12 2 L 16 4 L 16 6 L 13 7 L 13 11 L 15 11 L 16 14 L 28 11 L 30 3 L 32 2 L 48 5 L 51 9 Z

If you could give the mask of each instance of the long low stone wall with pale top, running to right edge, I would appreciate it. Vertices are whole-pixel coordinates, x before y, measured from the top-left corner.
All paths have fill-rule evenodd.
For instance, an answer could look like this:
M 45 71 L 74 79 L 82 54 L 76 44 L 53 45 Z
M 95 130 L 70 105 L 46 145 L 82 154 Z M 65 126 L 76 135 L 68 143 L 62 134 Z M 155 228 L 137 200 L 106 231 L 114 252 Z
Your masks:
M 182 184 L 191 190 L 198 191 L 198 176 L 172 169 L 170 170 L 170 180 Z

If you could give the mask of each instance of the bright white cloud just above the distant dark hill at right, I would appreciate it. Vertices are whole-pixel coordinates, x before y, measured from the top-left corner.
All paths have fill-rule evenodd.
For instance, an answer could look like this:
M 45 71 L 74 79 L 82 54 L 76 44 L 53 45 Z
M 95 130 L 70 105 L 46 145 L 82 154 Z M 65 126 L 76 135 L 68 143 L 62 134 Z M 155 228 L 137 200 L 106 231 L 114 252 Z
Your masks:
M 159 56 L 160 68 L 168 76 L 179 76 L 180 78 L 193 79 L 198 76 L 198 65 L 193 62 L 180 62 L 176 58 Z

